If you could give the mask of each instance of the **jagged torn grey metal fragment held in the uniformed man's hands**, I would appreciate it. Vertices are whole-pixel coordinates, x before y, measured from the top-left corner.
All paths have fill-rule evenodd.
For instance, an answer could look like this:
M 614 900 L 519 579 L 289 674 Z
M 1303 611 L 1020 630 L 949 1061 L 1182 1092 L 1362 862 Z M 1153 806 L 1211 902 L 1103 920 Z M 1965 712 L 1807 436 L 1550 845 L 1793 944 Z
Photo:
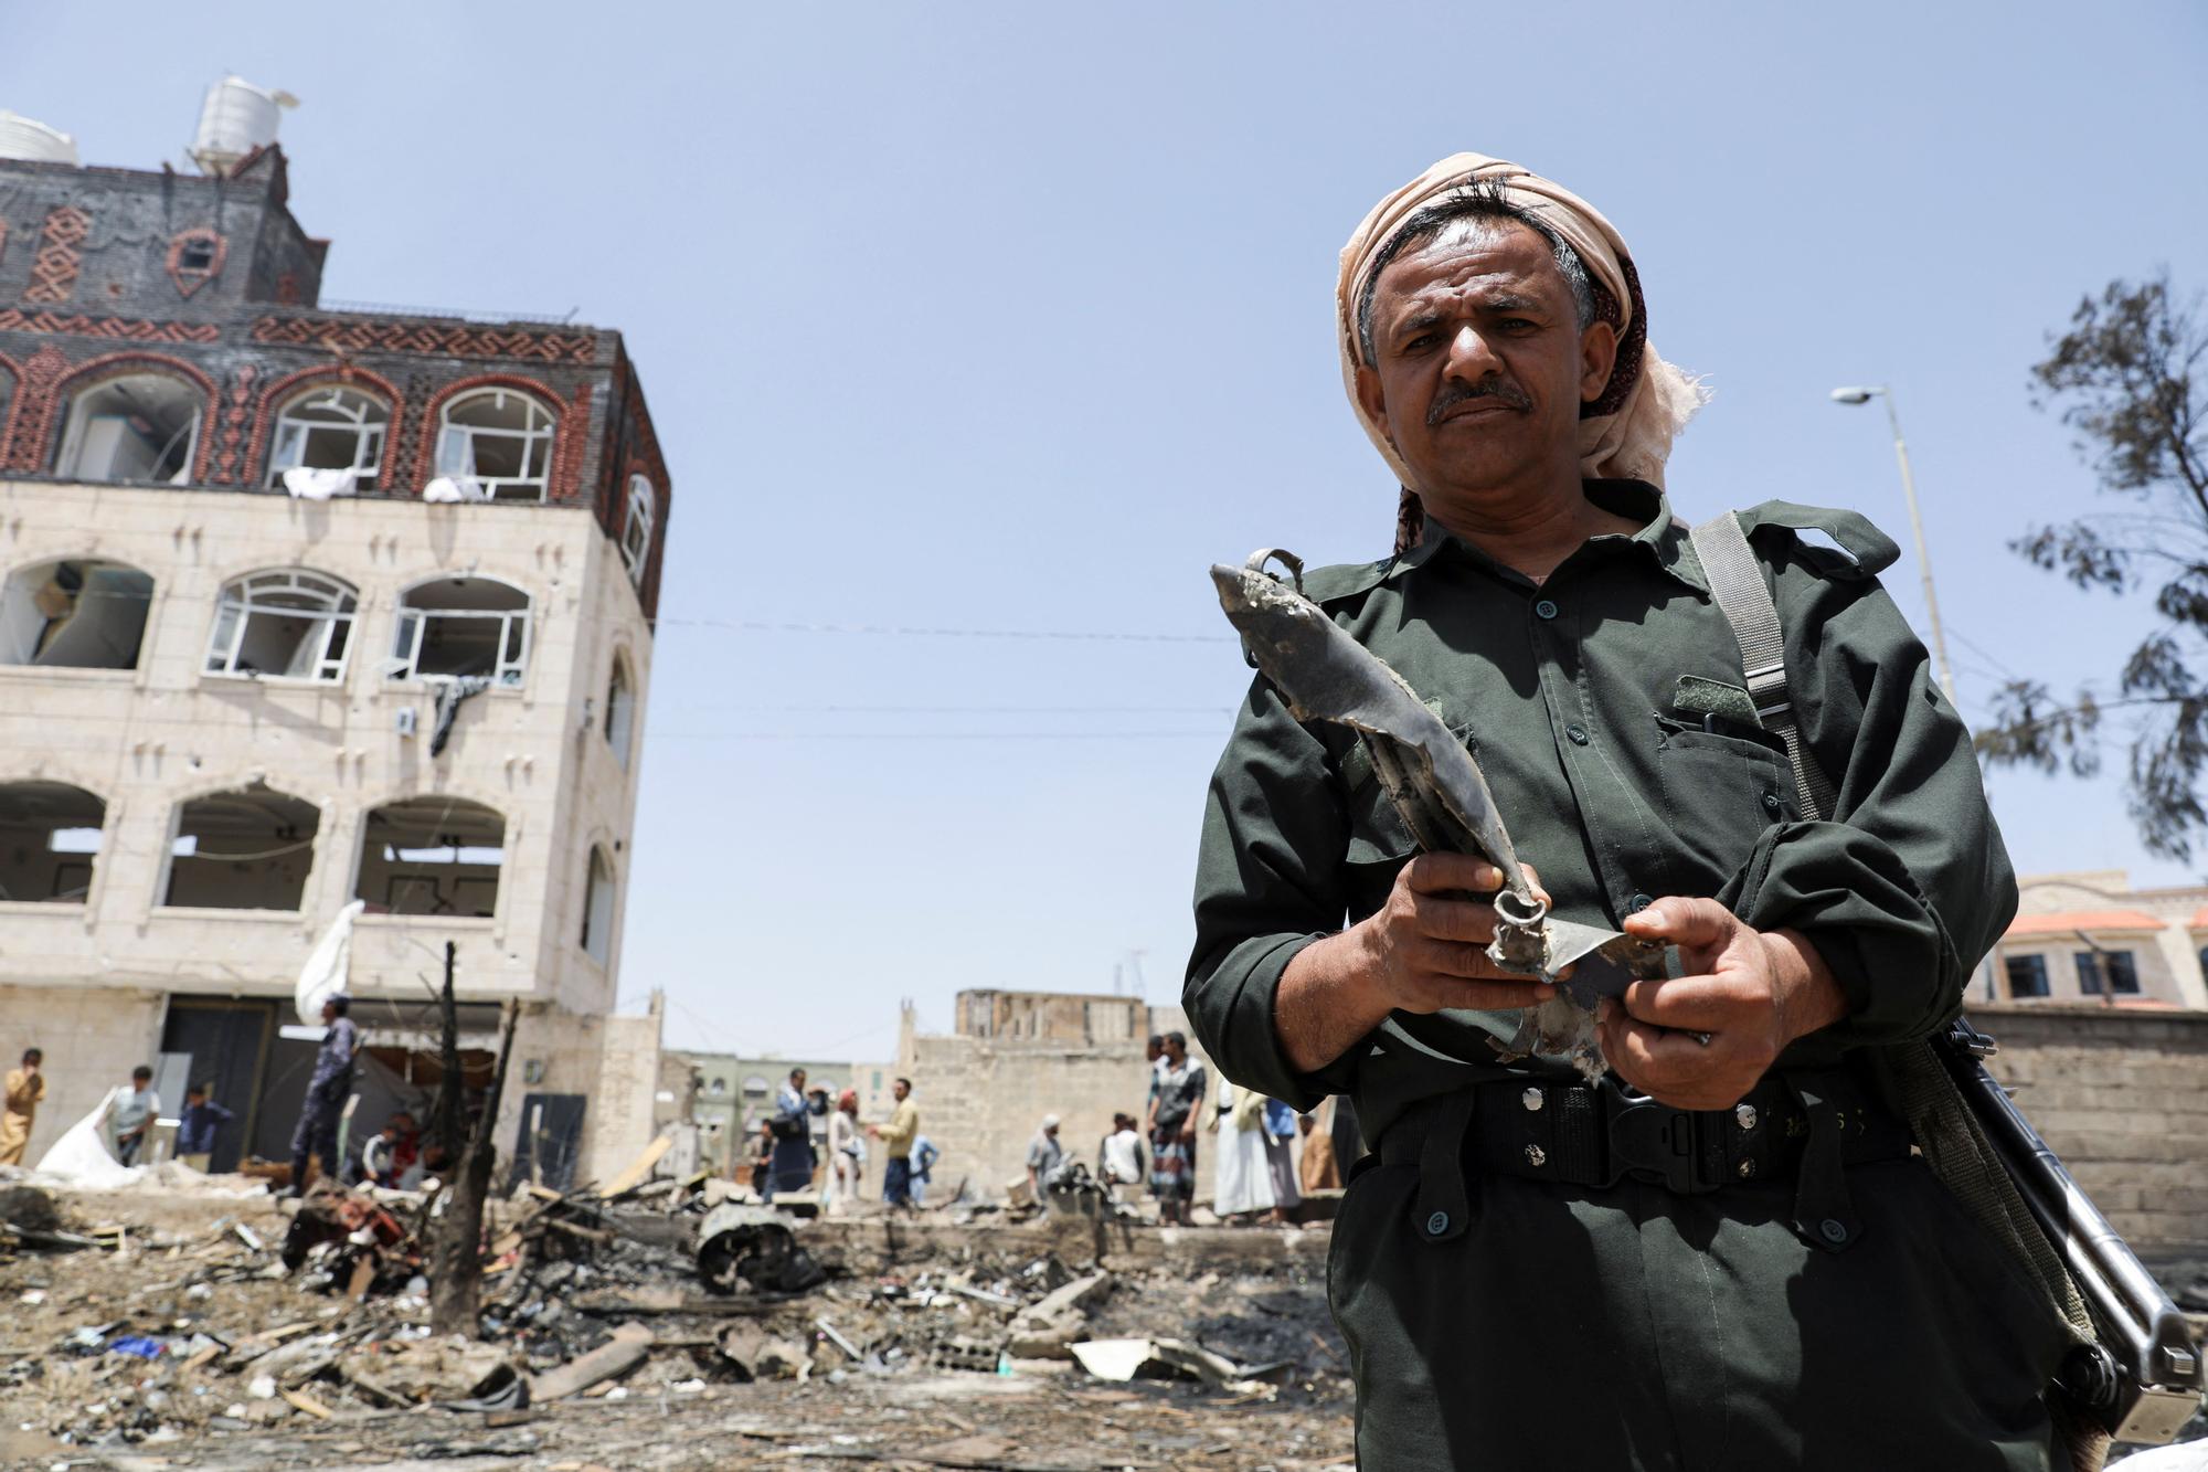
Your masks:
M 1292 570 L 1294 588 L 1265 570 L 1276 559 Z M 1501 871 L 1488 957 L 1506 970 L 1559 984 L 1554 1001 L 1526 1012 L 1504 1056 L 1539 1050 L 1570 1056 L 1590 1076 L 1601 1072 L 1594 1006 L 1636 977 L 1660 977 L 1663 946 L 1548 913 L 1526 884 L 1479 763 L 1400 674 L 1303 597 L 1296 557 L 1261 548 L 1241 568 L 1212 566 L 1212 583 L 1252 663 L 1287 701 L 1289 714 L 1358 734 L 1389 802 L 1422 849 L 1473 853 Z M 1565 968 L 1574 968 L 1572 975 L 1559 977 Z

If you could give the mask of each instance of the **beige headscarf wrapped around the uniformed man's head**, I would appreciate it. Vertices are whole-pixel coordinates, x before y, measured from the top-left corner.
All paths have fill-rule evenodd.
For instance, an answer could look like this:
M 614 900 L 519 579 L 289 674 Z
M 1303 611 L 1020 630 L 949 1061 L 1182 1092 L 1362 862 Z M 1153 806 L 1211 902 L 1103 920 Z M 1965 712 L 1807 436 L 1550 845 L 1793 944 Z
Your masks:
M 1678 367 L 1656 356 L 1647 338 L 1647 303 L 1625 239 L 1579 194 L 1550 183 L 1517 164 L 1482 153 L 1457 153 L 1402 186 L 1365 217 L 1342 248 L 1342 270 L 1334 290 L 1336 327 L 1342 347 L 1342 387 L 1367 438 L 1404 486 L 1398 550 L 1418 539 L 1424 511 L 1411 493 L 1411 469 L 1389 444 L 1387 427 L 1358 402 L 1358 301 L 1382 248 L 1420 210 L 1444 201 L 1468 183 L 1499 188 L 1504 199 L 1539 219 L 1565 241 L 1588 267 L 1594 316 L 1618 334 L 1618 358 L 1601 396 L 1579 407 L 1579 469 L 1590 480 L 1632 477 L 1663 486 L 1671 438 L 1694 418 L 1709 393 Z

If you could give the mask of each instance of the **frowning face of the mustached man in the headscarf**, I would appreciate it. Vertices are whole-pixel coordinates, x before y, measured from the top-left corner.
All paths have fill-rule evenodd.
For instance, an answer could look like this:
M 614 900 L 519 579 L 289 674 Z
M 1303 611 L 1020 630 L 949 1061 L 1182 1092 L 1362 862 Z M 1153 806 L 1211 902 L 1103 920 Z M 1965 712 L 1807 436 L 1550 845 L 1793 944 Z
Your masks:
M 1404 250 L 1380 272 L 1371 327 L 1358 402 L 1444 519 L 1577 464 L 1579 407 L 1601 396 L 1616 334 L 1579 332 L 1572 287 L 1535 230 L 1466 219 Z

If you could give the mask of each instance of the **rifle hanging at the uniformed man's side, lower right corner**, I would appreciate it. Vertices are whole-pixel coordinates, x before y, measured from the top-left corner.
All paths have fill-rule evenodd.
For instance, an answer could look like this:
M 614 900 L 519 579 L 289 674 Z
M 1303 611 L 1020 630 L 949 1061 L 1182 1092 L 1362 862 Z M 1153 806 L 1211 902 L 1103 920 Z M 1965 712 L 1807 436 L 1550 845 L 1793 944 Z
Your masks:
M 1994 1039 L 1956 1017 L 1932 1050 L 2093 1317 L 2095 1342 L 2069 1353 L 2056 1384 L 2115 1441 L 2170 1441 L 2201 1406 L 2201 1355 L 2177 1304 L 1985 1072 Z

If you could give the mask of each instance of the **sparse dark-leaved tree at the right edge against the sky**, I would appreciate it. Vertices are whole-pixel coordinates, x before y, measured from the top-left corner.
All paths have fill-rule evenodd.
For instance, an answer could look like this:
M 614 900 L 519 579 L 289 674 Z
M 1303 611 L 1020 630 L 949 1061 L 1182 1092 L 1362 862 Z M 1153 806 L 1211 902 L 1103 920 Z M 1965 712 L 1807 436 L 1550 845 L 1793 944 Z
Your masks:
M 2164 270 L 2087 296 L 2049 347 L 2031 369 L 2034 407 L 2062 416 L 2100 495 L 2129 504 L 2034 526 L 2009 546 L 2087 590 L 2153 592 L 2159 621 L 2113 690 L 2087 683 L 2064 701 L 2042 681 L 2003 685 L 1978 751 L 1996 767 L 2091 776 L 2102 745 L 2129 738 L 2124 796 L 2140 838 L 2184 860 L 2208 835 L 2208 318 Z

